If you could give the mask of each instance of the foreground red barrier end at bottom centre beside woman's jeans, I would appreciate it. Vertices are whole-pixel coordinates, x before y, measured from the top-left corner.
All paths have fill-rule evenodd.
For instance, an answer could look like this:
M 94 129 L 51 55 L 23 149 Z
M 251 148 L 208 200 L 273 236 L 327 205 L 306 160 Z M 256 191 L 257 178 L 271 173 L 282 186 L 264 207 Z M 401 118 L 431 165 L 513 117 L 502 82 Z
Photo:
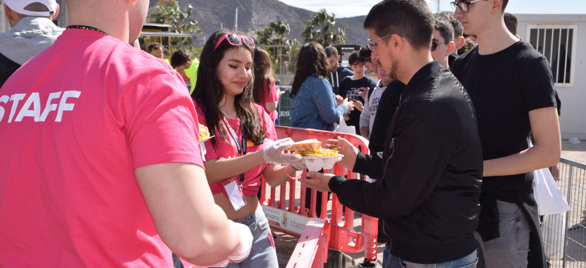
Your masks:
M 287 268 L 322 268 L 328 258 L 328 234 L 328 221 L 309 219 L 291 254 Z

